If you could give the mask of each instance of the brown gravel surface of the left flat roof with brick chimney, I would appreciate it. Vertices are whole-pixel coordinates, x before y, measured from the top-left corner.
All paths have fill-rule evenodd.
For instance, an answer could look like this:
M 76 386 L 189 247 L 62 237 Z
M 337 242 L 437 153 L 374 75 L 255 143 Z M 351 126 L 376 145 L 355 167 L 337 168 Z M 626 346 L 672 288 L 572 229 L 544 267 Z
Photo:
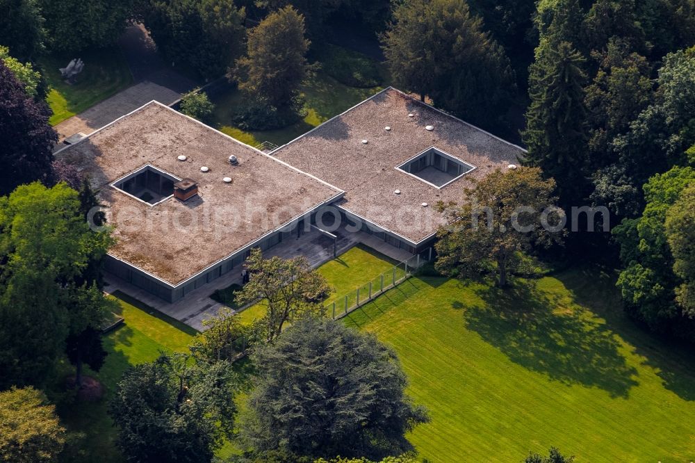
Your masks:
M 238 165 L 229 163 L 232 154 Z M 117 239 L 109 254 L 172 285 L 343 193 L 156 101 L 56 157 L 99 188 Z M 192 179 L 198 195 L 152 206 L 111 186 L 145 165 Z

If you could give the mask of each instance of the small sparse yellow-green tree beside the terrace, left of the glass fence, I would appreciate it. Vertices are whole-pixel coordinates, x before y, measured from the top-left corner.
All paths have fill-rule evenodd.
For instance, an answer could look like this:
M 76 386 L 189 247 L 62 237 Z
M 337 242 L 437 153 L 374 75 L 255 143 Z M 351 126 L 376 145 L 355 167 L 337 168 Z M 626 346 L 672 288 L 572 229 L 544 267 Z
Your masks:
M 260 300 L 265 315 L 256 322 L 255 330 L 266 342 L 280 335 L 285 323 L 292 323 L 306 314 L 320 314 L 320 300 L 331 291 L 326 279 L 309 266 L 304 256 L 292 259 L 263 259 L 256 248 L 246 261 L 250 282 L 235 293 L 240 305 Z

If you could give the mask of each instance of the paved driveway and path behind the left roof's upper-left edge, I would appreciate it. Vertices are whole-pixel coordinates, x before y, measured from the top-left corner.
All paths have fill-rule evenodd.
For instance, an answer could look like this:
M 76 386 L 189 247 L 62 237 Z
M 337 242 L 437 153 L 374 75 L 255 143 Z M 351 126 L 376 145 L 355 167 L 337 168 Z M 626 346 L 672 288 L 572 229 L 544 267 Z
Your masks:
M 129 26 L 119 44 L 136 83 L 56 125 L 57 149 L 64 146 L 62 142 L 65 138 L 75 133 L 89 135 L 153 99 L 171 105 L 183 93 L 195 87 L 193 81 L 165 65 L 142 24 Z

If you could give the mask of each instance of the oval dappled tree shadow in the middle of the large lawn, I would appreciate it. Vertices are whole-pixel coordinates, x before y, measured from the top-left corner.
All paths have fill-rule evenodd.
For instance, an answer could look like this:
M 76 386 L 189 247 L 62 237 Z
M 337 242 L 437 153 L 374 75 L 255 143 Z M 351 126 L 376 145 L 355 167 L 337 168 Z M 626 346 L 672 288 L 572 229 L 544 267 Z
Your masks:
M 469 307 L 468 329 L 500 349 L 512 362 L 564 384 L 598 387 L 628 397 L 639 384 L 637 370 L 621 355 L 617 336 L 589 311 L 548 298 L 536 282 L 517 279 L 509 289 L 480 287 L 484 304 Z M 564 303 L 562 303 L 564 302 Z

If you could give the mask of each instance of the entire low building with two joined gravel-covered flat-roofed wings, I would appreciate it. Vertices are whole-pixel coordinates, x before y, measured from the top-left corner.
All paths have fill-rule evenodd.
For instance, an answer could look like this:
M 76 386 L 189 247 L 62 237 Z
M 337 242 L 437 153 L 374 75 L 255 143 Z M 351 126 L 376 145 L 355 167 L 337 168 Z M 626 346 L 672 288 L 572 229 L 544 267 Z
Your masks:
M 327 206 L 416 252 L 444 223 L 437 201 L 523 149 L 387 88 L 272 154 L 152 101 L 56 155 L 99 190 L 107 269 L 174 302 Z

